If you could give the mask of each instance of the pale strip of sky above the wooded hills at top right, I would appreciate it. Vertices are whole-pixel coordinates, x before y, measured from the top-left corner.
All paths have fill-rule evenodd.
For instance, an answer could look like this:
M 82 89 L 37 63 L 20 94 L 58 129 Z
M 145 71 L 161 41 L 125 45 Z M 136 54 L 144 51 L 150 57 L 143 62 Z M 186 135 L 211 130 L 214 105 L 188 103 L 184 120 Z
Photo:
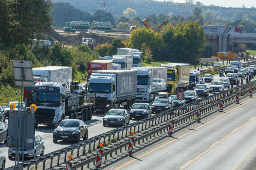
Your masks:
M 164 1 L 164 0 L 159 0 Z M 245 5 L 246 8 L 250 8 L 251 6 L 256 7 L 256 0 L 194 0 L 203 3 L 204 5 L 217 5 L 223 7 L 239 7 Z M 186 0 L 173 0 L 173 2 L 185 3 Z

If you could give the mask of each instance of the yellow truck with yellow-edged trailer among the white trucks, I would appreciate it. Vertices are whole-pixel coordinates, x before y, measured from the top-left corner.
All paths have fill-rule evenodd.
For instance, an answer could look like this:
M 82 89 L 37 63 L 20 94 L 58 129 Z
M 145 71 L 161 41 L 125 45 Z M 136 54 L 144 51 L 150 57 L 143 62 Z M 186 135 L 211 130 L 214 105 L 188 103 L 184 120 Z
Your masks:
M 168 63 L 160 64 L 160 66 L 167 67 L 167 92 L 170 95 L 175 95 L 188 89 L 189 64 Z

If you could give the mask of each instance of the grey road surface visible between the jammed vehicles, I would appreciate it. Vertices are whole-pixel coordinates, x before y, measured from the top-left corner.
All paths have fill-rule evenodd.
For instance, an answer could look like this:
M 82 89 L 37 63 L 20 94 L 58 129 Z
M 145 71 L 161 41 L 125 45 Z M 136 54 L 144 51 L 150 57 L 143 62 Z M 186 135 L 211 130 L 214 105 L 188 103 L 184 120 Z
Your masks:
M 219 79 L 220 79 L 220 77 L 218 76 L 218 74 L 215 74 L 214 80 L 219 80 Z M 245 82 L 245 80 L 244 80 L 244 82 Z M 83 85 L 83 84 L 85 84 L 85 82 L 81 83 L 81 85 Z M 210 83 L 206 83 L 206 84 L 209 86 Z M 209 94 L 209 95 L 212 95 L 212 94 Z M 150 104 L 152 104 L 152 102 Z M 85 121 L 85 123 L 88 125 L 88 130 L 89 130 L 88 137 L 89 138 L 117 128 L 117 127 L 110 127 L 110 126 L 103 127 L 103 124 L 102 124 L 103 117 L 104 117 L 104 113 L 94 114 L 92 117 L 92 120 Z M 130 120 L 130 123 L 135 122 L 135 121 L 138 121 L 138 120 L 132 119 L 132 120 Z M 8 122 L 8 119 L 6 120 L 6 123 L 7 122 Z M 66 141 L 58 141 L 58 143 L 53 143 L 52 132 L 54 129 L 55 129 L 54 127 L 48 127 L 48 126 L 44 126 L 44 125 L 39 125 L 36 128 L 35 134 L 38 134 L 43 138 L 43 141 L 45 144 L 45 154 L 74 144 L 72 142 L 66 142 Z M 15 160 L 8 159 L 8 148 L 6 148 L 6 144 L 4 144 L 3 142 L 0 144 L 0 150 L 4 153 L 4 155 L 6 155 L 6 167 L 13 166 L 15 163 Z M 28 159 L 26 159 L 26 160 L 28 160 Z

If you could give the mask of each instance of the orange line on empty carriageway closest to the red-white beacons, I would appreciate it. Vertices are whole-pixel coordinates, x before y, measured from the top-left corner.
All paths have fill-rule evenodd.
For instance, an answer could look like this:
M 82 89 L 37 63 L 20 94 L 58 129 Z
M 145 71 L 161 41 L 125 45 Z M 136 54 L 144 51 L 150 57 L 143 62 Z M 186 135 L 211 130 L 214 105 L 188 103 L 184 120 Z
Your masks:
M 124 165 L 121 165 L 121 166 L 117 167 L 115 170 L 118 170 L 118 169 L 120 169 L 120 168 L 122 168 L 122 167 L 124 167 L 124 166 L 126 166 L 126 165 L 128 165 L 128 164 L 130 164 L 130 163 L 132 163 L 132 162 L 134 162 L 135 160 L 137 160 L 137 159 L 139 159 L 139 158 L 142 158 L 143 156 L 145 156 L 145 155 L 147 155 L 147 154 L 150 154 L 151 152 L 153 152 L 153 151 L 155 151 L 155 150 L 157 150 L 157 149 L 159 149 L 159 148 L 161 148 L 161 147 L 164 147 L 165 145 L 170 144 L 170 143 L 172 143 L 173 141 L 178 140 L 178 139 L 181 138 L 181 137 L 186 136 L 187 134 L 189 134 L 189 133 L 191 133 L 191 132 L 194 132 L 195 130 L 199 129 L 200 127 L 203 127 L 203 126 L 205 126 L 205 125 L 207 125 L 207 124 L 209 124 L 209 123 L 215 121 L 216 119 L 218 119 L 218 118 L 220 118 L 220 117 L 222 117 L 222 116 L 224 116 L 224 115 L 230 113 L 230 112 L 233 111 L 233 110 L 236 110 L 237 108 L 239 108 L 239 107 L 241 107 L 241 106 L 243 106 L 243 105 L 249 103 L 250 101 L 252 101 L 252 100 L 254 100 L 254 99 L 255 99 L 255 98 L 253 98 L 253 99 L 248 99 L 249 101 L 246 100 L 246 101 L 242 102 L 242 103 L 244 103 L 244 104 L 241 103 L 239 106 L 237 106 L 237 107 L 235 107 L 235 108 L 233 108 L 233 109 L 231 109 L 231 110 L 225 112 L 224 114 L 222 114 L 222 115 L 220 115 L 220 116 L 218 116 L 218 117 L 212 119 L 211 121 L 209 121 L 209 122 L 207 122 L 207 123 L 205 123 L 205 124 L 203 124 L 203 125 L 201 125 L 201 126 L 195 128 L 195 129 L 193 129 L 193 130 L 191 130 L 191 131 L 189 131 L 189 132 L 187 132 L 187 133 L 185 133 L 185 134 L 183 134 L 183 135 L 181 135 L 181 136 L 179 136 L 179 137 L 177 137 L 177 138 L 175 138 L 174 140 L 171 140 L 171 141 L 169 141 L 169 142 L 167 142 L 167 143 L 165 143 L 165 144 L 163 144 L 163 145 L 160 145 L 159 147 L 154 148 L 154 149 L 152 149 L 151 151 L 146 152 L 145 154 L 143 154 L 143 155 L 141 155 L 141 156 L 138 156 L 137 158 L 134 158 L 134 159 L 130 160 L 129 162 L 125 163 Z

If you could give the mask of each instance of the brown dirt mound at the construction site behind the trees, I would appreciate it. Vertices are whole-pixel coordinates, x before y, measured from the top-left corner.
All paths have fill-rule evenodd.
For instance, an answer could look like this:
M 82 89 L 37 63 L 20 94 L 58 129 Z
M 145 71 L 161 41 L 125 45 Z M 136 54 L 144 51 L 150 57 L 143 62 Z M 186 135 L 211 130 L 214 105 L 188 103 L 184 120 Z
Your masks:
M 96 41 L 96 44 L 104 44 L 106 42 L 112 43 L 112 38 L 107 36 L 98 36 L 95 33 L 87 33 L 87 32 L 80 32 L 77 35 L 70 36 L 64 42 L 61 42 L 65 45 L 79 45 L 82 42 L 82 38 L 93 38 Z

